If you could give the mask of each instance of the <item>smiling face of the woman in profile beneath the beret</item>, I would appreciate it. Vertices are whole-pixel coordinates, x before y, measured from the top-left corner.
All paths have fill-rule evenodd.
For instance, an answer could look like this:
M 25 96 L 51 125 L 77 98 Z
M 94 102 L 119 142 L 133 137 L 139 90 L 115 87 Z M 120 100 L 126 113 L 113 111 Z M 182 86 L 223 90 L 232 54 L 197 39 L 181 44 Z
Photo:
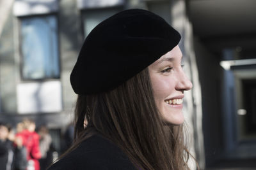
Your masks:
M 180 125 L 184 122 L 182 102 L 184 90 L 192 88 L 182 69 L 182 53 L 179 46 L 148 66 L 157 109 L 164 122 Z

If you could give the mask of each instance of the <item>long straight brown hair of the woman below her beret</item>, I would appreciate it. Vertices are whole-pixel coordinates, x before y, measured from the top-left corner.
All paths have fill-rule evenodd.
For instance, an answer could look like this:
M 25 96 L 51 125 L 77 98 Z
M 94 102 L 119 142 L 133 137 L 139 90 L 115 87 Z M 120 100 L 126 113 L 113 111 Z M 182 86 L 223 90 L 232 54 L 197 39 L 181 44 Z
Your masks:
M 148 69 L 109 92 L 79 95 L 75 114 L 75 141 L 68 152 L 97 132 L 120 147 L 138 169 L 189 169 L 183 126 L 161 118 Z

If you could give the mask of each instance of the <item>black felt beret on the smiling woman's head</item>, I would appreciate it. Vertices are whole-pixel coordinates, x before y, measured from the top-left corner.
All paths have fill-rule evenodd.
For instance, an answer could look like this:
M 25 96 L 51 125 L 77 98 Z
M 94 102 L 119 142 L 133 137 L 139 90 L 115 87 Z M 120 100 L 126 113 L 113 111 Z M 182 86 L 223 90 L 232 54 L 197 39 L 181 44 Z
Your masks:
M 70 82 L 76 94 L 114 89 L 178 45 L 180 34 L 158 15 L 140 9 L 116 13 L 86 37 Z

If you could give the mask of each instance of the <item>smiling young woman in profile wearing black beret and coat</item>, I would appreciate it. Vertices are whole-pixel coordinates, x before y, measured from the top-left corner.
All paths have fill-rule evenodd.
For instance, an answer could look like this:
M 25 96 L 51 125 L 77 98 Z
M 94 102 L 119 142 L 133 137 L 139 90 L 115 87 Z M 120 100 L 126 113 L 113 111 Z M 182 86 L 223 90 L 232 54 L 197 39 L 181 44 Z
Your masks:
M 145 10 L 101 22 L 70 76 L 78 94 L 74 144 L 56 169 L 188 169 L 179 32 Z

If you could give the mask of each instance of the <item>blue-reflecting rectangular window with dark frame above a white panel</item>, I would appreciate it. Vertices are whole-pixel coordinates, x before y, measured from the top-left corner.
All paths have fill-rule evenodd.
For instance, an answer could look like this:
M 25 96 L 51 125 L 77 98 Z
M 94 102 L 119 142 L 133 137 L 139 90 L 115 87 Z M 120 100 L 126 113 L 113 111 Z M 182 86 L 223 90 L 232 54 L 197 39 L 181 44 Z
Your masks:
M 56 17 L 21 18 L 23 80 L 60 78 Z

